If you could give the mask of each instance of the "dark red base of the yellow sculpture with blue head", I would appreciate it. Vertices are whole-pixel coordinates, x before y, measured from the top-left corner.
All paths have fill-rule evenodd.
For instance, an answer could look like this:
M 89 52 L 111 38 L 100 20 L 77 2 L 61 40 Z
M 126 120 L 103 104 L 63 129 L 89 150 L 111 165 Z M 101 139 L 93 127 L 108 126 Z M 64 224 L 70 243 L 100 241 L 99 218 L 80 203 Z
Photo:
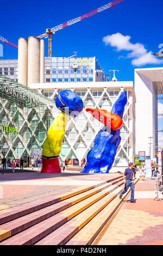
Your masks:
M 53 159 L 42 157 L 41 173 L 61 173 L 59 165 L 59 156 Z

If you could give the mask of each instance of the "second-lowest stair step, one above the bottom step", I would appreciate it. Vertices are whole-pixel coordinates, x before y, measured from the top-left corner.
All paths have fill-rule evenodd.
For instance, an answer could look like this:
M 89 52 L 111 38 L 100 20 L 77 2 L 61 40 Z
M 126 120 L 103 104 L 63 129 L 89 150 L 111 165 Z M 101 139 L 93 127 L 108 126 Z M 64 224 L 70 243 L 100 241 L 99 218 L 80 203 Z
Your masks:
M 65 245 L 65 243 L 76 234 L 84 225 L 86 225 L 93 217 L 95 217 L 117 194 L 123 190 L 122 187 L 116 188 L 112 193 L 108 194 L 95 204 L 91 205 L 85 211 L 81 212 L 78 216 L 72 218 L 58 229 L 54 230 L 51 234 L 44 237 L 35 245 Z M 88 230 L 87 230 L 88 231 Z

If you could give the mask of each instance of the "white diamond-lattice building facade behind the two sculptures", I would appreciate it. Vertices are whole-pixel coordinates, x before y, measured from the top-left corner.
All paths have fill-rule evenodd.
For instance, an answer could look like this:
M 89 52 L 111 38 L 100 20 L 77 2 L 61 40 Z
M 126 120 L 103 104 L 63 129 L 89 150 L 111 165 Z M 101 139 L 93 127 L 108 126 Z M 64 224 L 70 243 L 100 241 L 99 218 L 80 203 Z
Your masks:
M 69 117 L 66 134 L 62 142 L 60 161 L 68 161 L 69 165 L 82 166 L 87 153 L 93 147 L 97 133 L 104 126 L 85 111 L 87 107 L 111 111 L 114 102 L 126 90 L 128 101 L 123 115 L 121 127 L 121 143 L 117 149 L 114 167 L 126 167 L 135 157 L 135 92 L 133 82 L 83 82 L 83 83 L 35 83 L 29 87 L 55 101 L 58 93 L 70 89 L 77 93 L 84 102 L 83 111 L 77 118 Z M 51 112 L 51 107 L 49 107 Z M 57 117 L 59 110 L 51 112 Z M 54 119 L 53 119 L 54 120 Z M 51 121 L 53 121 L 51 120 Z M 113 169 L 114 169 L 113 167 Z M 119 169 L 120 170 L 120 169 Z M 122 168 L 121 168 L 122 170 Z

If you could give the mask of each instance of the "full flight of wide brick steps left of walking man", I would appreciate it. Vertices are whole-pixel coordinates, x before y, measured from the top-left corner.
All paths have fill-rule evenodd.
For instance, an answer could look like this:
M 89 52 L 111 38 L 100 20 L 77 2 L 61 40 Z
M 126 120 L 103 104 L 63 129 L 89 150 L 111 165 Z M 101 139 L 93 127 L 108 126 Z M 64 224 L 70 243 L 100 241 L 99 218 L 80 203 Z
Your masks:
M 0 215 L 0 245 L 90 244 L 121 203 L 116 197 L 123 188 L 120 175 L 96 186 L 15 206 Z M 90 228 L 90 223 L 93 226 L 98 223 L 97 230 Z M 84 237 L 88 229 L 92 230 L 89 243 L 88 239 L 81 243 L 77 236 Z

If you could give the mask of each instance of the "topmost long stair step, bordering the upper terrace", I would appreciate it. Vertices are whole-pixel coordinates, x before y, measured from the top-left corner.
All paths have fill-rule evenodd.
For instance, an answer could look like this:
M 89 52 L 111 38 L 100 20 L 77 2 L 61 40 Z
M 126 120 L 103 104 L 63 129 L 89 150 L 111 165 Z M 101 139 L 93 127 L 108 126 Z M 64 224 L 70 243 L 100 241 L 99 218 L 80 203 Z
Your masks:
M 121 177 L 122 176 L 118 176 L 111 180 L 107 180 L 107 181 L 104 181 L 104 182 L 101 182 L 99 184 L 92 185 L 92 186 L 81 186 L 79 188 L 75 188 L 71 192 L 67 192 L 64 194 L 57 195 L 57 196 L 53 195 L 53 196 L 49 196 L 48 198 L 37 199 L 37 200 L 34 200 L 34 201 L 26 203 L 26 204 L 14 206 L 11 208 L 10 211 L 5 212 L 4 214 L 0 215 L 0 225 L 3 223 L 9 222 L 9 221 L 15 220 L 18 217 L 22 217 L 24 215 L 30 214 L 31 212 L 45 208 L 49 205 L 58 203 L 67 198 L 76 196 L 77 194 L 92 190 L 93 188 L 96 188 L 98 186 L 102 186 L 102 185 L 106 184 L 107 182 L 109 182 L 109 183 L 112 181 L 114 182 L 117 179 L 120 179 Z

